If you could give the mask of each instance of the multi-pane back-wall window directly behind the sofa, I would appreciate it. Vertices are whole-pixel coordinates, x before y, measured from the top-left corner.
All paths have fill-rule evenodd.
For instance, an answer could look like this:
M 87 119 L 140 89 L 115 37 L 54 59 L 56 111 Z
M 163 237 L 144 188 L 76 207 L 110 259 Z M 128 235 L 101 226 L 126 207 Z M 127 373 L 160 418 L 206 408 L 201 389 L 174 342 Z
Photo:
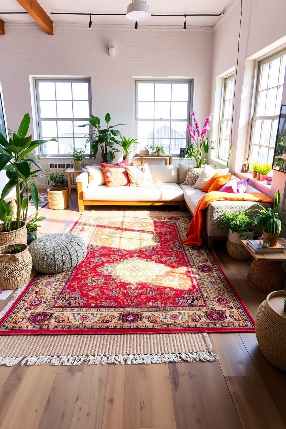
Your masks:
M 187 143 L 190 99 L 191 82 L 136 81 L 135 136 L 140 148 L 163 146 L 166 154 L 178 156 Z

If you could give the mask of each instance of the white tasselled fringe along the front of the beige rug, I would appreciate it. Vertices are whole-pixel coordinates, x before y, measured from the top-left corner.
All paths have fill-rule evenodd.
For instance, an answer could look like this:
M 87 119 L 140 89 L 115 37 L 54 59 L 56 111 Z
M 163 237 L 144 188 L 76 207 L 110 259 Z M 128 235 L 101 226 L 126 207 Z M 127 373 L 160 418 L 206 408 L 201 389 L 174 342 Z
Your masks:
M 107 363 L 114 364 L 151 364 L 151 363 L 169 363 L 169 362 L 214 362 L 218 359 L 217 354 L 211 351 L 199 351 L 193 353 L 163 353 L 163 354 L 125 354 L 125 355 L 107 355 L 107 356 L 20 356 L 20 357 L 1 357 L 0 365 L 13 366 L 18 362 L 21 365 L 81 365 L 86 362 L 87 365 L 106 365 Z

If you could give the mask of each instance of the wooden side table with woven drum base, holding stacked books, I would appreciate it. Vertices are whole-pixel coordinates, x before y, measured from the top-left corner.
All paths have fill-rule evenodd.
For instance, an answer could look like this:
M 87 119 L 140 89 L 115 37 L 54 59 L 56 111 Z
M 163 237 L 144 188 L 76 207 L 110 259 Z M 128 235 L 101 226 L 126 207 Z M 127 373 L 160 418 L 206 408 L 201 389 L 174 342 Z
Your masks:
M 241 240 L 242 244 L 253 256 L 247 283 L 259 292 L 270 293 L 274 290 L 284 289 L 284 271 L 282 262 L 286 261 L 286 251 L 283 253 L 253 253 L 246 245 L 247 240 Z M 281 244 L 283 240 L 278 240 Z

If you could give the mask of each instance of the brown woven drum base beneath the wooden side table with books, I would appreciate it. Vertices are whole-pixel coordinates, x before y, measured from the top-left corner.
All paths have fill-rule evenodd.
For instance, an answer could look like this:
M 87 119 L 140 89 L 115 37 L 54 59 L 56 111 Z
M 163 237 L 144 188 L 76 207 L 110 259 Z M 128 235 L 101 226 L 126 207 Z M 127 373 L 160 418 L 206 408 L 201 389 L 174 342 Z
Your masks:
M 281 262 L 256 261 L 253 259 L 247 283 L 259 292 L 270 293 L 284 289 L 284 275 Z

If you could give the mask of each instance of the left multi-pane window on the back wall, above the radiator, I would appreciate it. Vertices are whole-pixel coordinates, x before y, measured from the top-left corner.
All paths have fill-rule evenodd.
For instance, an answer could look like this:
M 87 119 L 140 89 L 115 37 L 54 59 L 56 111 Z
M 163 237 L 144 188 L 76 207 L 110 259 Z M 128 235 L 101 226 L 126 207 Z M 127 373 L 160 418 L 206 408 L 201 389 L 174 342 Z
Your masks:
M 36 101 L 41 139 L 57 139 L 41 147 L 41 154 L 65 155 L 84 148 L 90 117 L 90 82 L 73 79 L 36 79 Z M 86 148 L 89 153 L 89 147 Z

